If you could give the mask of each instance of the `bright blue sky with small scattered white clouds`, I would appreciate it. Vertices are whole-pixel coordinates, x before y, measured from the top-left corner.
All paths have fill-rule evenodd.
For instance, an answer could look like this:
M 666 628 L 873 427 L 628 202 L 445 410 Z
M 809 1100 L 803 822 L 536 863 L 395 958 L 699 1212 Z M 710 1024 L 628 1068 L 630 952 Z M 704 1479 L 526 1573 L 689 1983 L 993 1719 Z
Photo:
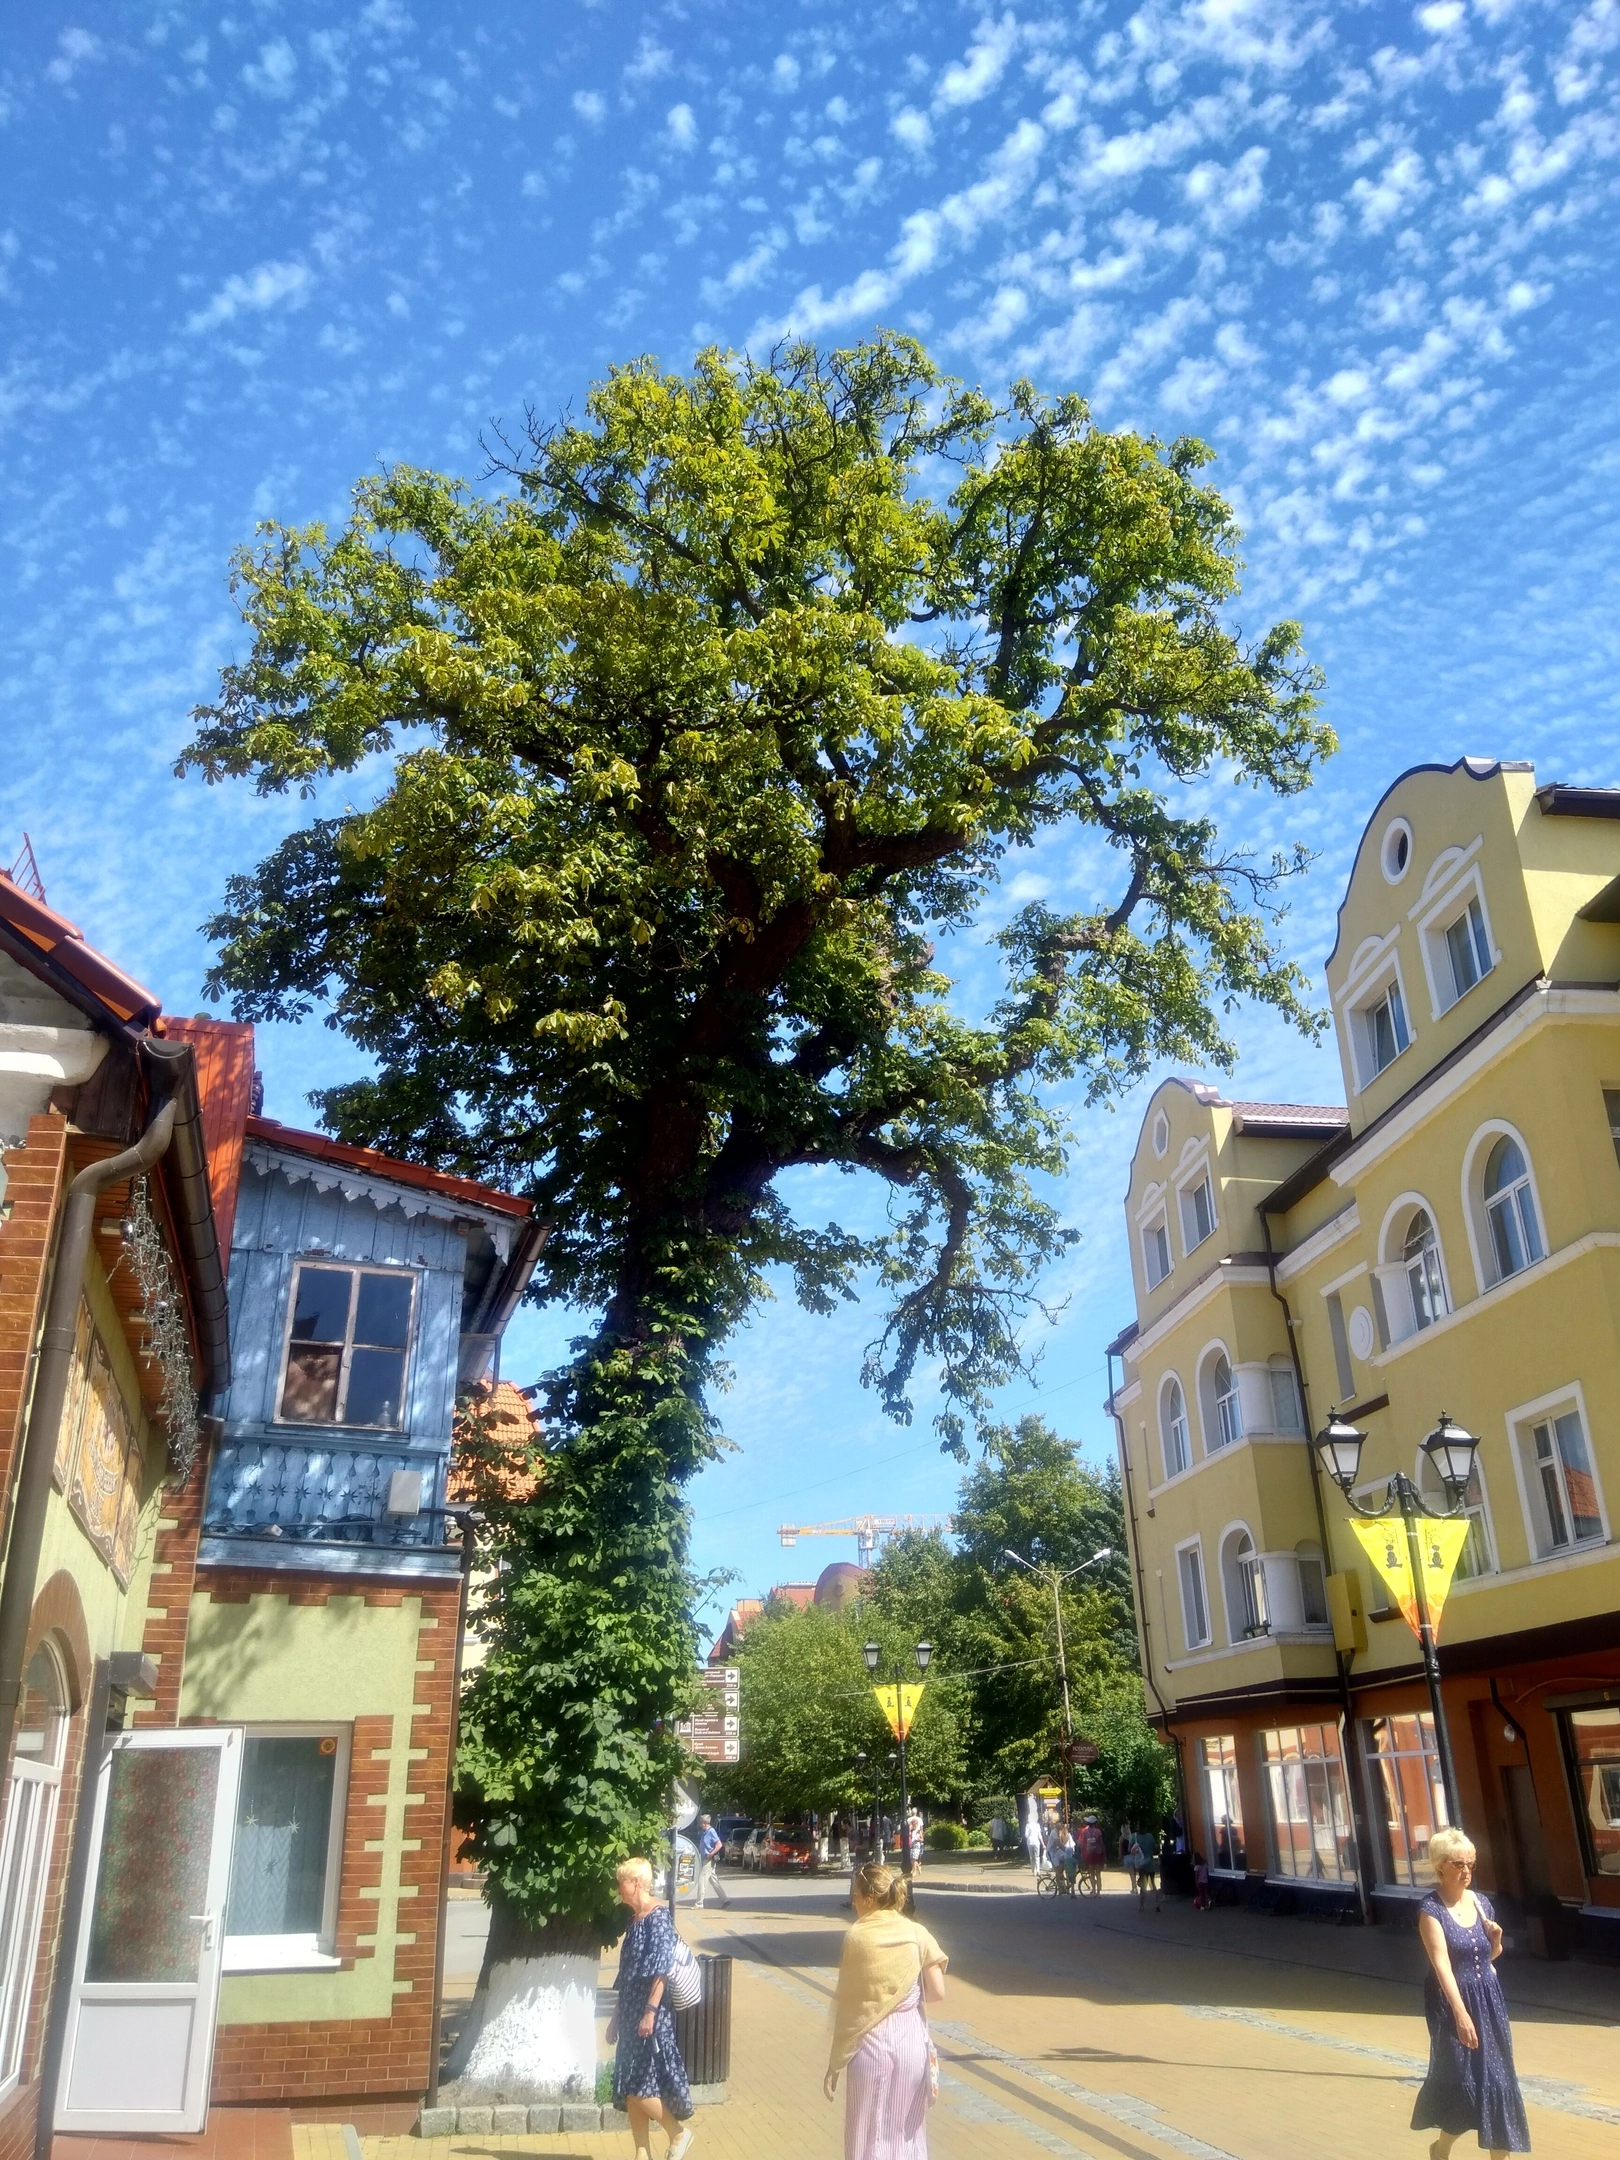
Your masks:
M 1620 780 L 1618 181 L 1618 0 L 13 9 L 0 853 L 26 827 L 50 899 L 192 1011 L 197 924 L 298 819 L 171 778 L 242 644 L 255 518 L 337 521 L 391 458 L 475 473 L 490 419 L 616 359 L 890 324 L 1218 449 L 1238 620 L 1305 622 L 1344 747 L 1281 808 L 1201 793 L 1318 849 L 1290 940 L 1320 978 L 1404 765 Z M 1048 842 L 1007 903 L 1106 890 Z M 1236 1039 L 1238 1093 L 1337 1095 L 1331 1052 L 1253 1015 Z M 350 1065 L 318 1026 L 261 1050 L 289 1121 Z M 1007 1391 L 1093 1452 L 1138 1112 L 1078 1115 L 1067 1305 L 1041 1387 Z M 508 1372 L 568 1328 L 525 1318 Z M 849 1553 L 780 1553 L 784 1516 L 948 1508 L 927 1415 L 901 1432 L 858 1385 L 868 1333 L 778 1302 L 739 1339 L 700 1566 L 762 1588 Z

